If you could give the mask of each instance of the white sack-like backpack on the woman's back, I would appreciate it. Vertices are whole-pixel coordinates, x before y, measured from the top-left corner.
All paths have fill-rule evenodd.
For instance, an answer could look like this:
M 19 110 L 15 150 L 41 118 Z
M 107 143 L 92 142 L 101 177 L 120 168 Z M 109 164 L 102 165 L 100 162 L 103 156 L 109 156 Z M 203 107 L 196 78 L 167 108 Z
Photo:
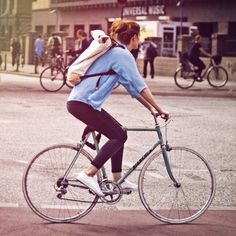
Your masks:
M 93 62 L 107 52 L 111 45 L 111 39 L 102 30 L 91 31 L 93 37 L 92 43 L 89 47 L 71 64 L 68 69 L 68 79 L 71 83 L 77 84 L 80 82 L 80 77 L 85 75 L 88 68 Z M 77 78 L 72 76 L 76 74 Z

